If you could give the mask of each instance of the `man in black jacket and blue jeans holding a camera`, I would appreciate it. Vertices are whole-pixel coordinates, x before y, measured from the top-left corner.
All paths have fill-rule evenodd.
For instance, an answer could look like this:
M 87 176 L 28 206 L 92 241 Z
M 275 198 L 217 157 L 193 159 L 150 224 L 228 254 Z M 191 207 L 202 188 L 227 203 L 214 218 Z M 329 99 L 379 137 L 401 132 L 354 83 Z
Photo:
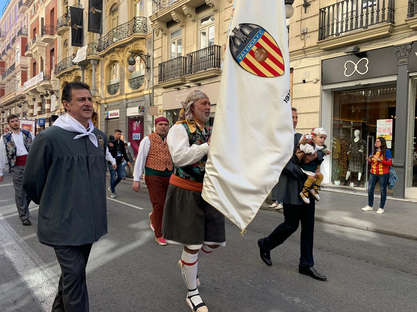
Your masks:
M 108 136 L 108 150 L 110 151 L 111 156 L 116 159 L 117 165 L 116 170 L 114 170 L 111 163 L 107 162 L 108 170 L 110 171 L 110 187 L 108 190 L 111 191 L 111 198 L 117 198 L 115 188 L 123 178 L 124 169 L 122 166 L 122 157 L 129 159 L 126 154 L 125 143 L 120 139 L 121 136 L 122 131 L 120 129 L 114 131 L 114 136 Z M 128 161 L 128 166 L 131 166 L 130 161 Z

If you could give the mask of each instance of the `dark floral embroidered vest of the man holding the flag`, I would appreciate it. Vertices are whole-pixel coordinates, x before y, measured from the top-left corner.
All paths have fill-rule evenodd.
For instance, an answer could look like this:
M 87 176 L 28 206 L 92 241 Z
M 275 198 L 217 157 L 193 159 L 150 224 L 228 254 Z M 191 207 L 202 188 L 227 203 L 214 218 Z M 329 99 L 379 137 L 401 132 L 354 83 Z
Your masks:
M 191 133 L 188 125 L 184 122 L 182 124 L 187 131 L 188 134 L 188 141 L 190 146 L 193 144 L 201 145 L 208 141 L 208 138 L 211 136 L 211 130 L 206 128 L 206 132 L 204 133 L 200 128 L 197 127 L 196 132 Z M 196 181 L 203 183 L 204 173 L 206 173 L 206 161 L 207 155 L 204 155 L 198 162 L 193 163 L 191 165 L 178 168 L 174 166 L 174 176 L 179 176 L 180 178 L 185 178 L 191 181 Z

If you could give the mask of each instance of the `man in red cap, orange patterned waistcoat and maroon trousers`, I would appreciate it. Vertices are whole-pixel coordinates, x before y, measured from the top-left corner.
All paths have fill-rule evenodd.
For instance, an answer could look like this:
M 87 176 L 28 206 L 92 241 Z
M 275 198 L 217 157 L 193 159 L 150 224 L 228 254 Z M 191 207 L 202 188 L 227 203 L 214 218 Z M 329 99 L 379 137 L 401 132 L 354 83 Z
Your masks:
M 133 171 L 132 189 L 136 193 L 139 191 L 141 186 L 140 179 L 143 168 L 145 168 L 145 182 L 146 186 L 148 186 L 148 193 L 153 206 L 152 212 L 149 213 L 151 228 L 155 231 L 156 242 L 159 245 L 166 245 L 165 238 L 163 238 L 161 232 L 163 206 L 165 205 L 169 178 L 173 171 L 171 154 L 166 144 L 166 135 L 169 130 L 168 119 L 165 117 L 156 118 L 155 129 L 156 131 L 145 136 L 139 145 Z

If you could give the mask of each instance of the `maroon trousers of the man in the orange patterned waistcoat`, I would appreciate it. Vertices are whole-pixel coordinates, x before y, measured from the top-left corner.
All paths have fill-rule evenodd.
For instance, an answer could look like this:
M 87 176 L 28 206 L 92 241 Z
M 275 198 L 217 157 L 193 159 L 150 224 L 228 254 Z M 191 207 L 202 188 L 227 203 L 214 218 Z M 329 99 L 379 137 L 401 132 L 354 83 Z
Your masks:
M 163 206 L 165 205 L 166 192 L 168 191 L 170 177 L 146 176 L 145 183 L 148 187 L 149 198 L 152 203 L 153 226 L 155 227 L 155 237 L 162 236 L 162 217 Z

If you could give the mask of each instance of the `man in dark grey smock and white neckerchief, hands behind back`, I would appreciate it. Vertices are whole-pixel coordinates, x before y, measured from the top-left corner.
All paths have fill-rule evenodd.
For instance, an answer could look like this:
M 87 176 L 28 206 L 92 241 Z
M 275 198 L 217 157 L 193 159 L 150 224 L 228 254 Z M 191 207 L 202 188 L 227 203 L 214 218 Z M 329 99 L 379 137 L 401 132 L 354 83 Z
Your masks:
M 38 239 L 55 250 L 61 267 L 52 312 L 89 311 L 85 267 L 91 246 L 107 233 L 106 135 L 90 118 L 90 87 L 63 87 L 67 114 L 33 141 L 23 186 L 39 204 Z

